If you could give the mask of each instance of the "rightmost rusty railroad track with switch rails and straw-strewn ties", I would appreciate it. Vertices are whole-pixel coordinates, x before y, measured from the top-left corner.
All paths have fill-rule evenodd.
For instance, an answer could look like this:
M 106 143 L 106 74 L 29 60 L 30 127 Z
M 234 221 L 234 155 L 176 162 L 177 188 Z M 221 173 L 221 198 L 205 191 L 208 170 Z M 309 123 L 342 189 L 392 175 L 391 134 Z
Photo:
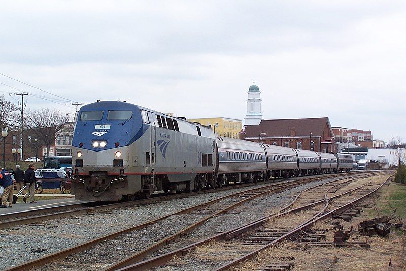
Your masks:
M 387 180 L 385 180 L 385 182 L 386 181 Z M 371 193 L 374 193 L 375 191 L 377 191 L 380 187 L 383 186 L 384 183 L 382 183 L 378 188 L 374 189 L 373 191 L 367 193 L 366 196 L 369 196 Z M 233 238 L 240 237 L 240 236 L 246 234 L 247 232 L 252 232 L 253 230 L 257 230 L 259 227 L 265 227 L 266 223 L 268 223 L 269 220 L 280 218 L 280 217 L 283 217 L 283 216 L 286 216 L 286 215 L 289 215 L 289 214 L 297 214 L 297 212 L 299 212 L 299 211 L 303 212 L 303 210 L 313 208 L 313 207 L 315 207 L 317 205 L 323 205 L 323 207 L 320 210 L 318 210 L 317 212 L 316 212 L 315 209 L 310 210 L 309 213 L 315 213 L 316 212 L 317 214 L 311 216 L 310 219 L 308 219 L 305 222 L 302 222 L 298 227 L 296 227 L 294 229 L 287 228 L 287 227 L 279 227 L 278 229 L 264 228 L 263 232 L 262 232 L 263 236 L 259 236 L 259 237 L 262 238 L 262 239 L 260 239 L 261 242 L 263 241 L 262 243 L 265 243 L 265 244 L 257 245 L 257 244 L 254 243 L 254 245 L 253 244 L 248 245 L 248 247 L 250 247 L 250 248 L 253 248 L 253 246 L 254 246 L 254 248 L 255 248 L 255 246 L 258 246 L 258 247 L 255 248 L 253 251 L 250 251 L 250 253 L 247 253 L 247 255 L 241 256 L 240 258 L 238 258 L 236 260 L 233 260 L 230 263 L 227 263 L 226 265 L 219 268 L 219 270 L 225 270 L 225 269 L 228 269 L 228 268 L 230 268 L 232 266 L 235 266 L 235 265 L 239 264 L 242 261 L 254 258 L 260 251 L 268 248 L 269 246 L 273 246 L 273 245 L 277 244 L 278 242 L 280 242 L 281 240 L 284 240 L 284 239 L 286 239 L 288 237 L 291 237 L 291 236 L 293 236 L 293 235 L 295 235 L 297 233 L 300 233 L 302 230 L 304 230 L 304 229 L 310 227 L 311 225 L 313 225 L 316 221 L 319 221 L 320 219 L 324 219 L 326 216 L 331 216 L 334 212 L 339 212 L 340 210 L 345 209 L 347 206 L 351 206 L 351 204 L 353 204 L 354 202 L 364 199 L 366 196 L 362 196 L 362 197 L 360 197 L 360 198 L 358 198 L 358 199 L 356 199 L 354 201 L 351 201 L 350 203 L 348 203 L 346 205 L 337 207 L 333 211 L 326 213 L 326 209 L 329 206 L 329 202 L 331 200 L 336 200 L 337 198 L 340 198 L 340 197 L 343 197 L 343 196 L 348 195 L 350 193 L 353 193 L 354 191 L 363 189 L 368 184 L 369 183 L 366 183 L 366 184 L 363 184 L 363 185 L 361 185 L 359 187 L 352 188 L 352 189 L 350 189 L 350 190 L 348 190 L 346 192 L 340 193 L 339 195 L 330 196 L 330 197 L 327 196 L 328 193 L 331 192 L 333 189 L 335 189 L 335 188 L 342 185 L 342 183 L 336 184 L 336 185 L 330 186 L 327 189 L 327 191 L 325 191 L 324 199 L 313 202 L 313 203 L 310 203 L 310 204 L 307 204 L 307 205 L 304 205 L 304 206 L 300 206 L 300 207 L 296 207 L 296 208 L 292 208 L 292 209 L 287 210 L 288 208 L 290 208 L 297 201 L 297 199 L 300 197 L 300 195 L 302 193 L 310 190 L 310 189 L 307 189 L 306 191 L 302 191 L 299 195 L 297 195 L 297 197 L 291 203 L 286 205 L 284 208 L 282 208 L 281 210 L 279 210 L 279 212 L 276 212 L 275 214 L 265 216 L 265 217 L 263 217 L 261 219 L 258 219 L 258 220 L 254 221 L 252 223 L 246 224 L 246 225 L 244 225 L 242 227 L 238 227 L 238 228 L 235 228 L 235 229 L 232 229 L 232 230 L 217 234 L 217 235 L 215 235 L 213 237 L 206 238 L 204 240 L 193 243 L 191 245 L 176 249 L 174 251 L 171 251 L 171 252 L 168 252 L 168 253 L 165 253 L 165 254 L 162 254 L 162 255 L 147 259 L 147 260 L 143 260 L 143 261 L 140 261 L 140 262 L 137 262 L 137 263 L 134 263 L 134 264 L 128 264 L 129 263 L 128 261 L 127 262 L 123 261 L 121 263 L 116 264 L 114 267 L 111 266 L 107 270 L 113 270 L 113 269 L 114 270 L 145 270 L 145 269 L 154 268 L 154 267 L 157 267 L 157 266 L 160 266 L 160 265 L 164 265 L 167 261 L 173 259 L 175 256 L 181 257 L 181 256 L 187 254 L 189 251 L 194 250 L 194 249 L 196 249 L 196 247 L 201 246 L 201 245 L 203 245 L 205 243 L 207 244 L 207 243 L 210 243 L 210 242 L 216 242 L 216 244 L 218 244 L 220 241 L 223 242 L 224 240 L 227 242 L 227 240 L 231 240 Z M 317 187 L 319 187 L 319 186 L 317 186 Z M 327 214 L 329 214 L 329 215 L 327 215 Z M 256 232 L 256 234 L 258 234 L 258 232 Z M 254 237 L 254 238 L 251 238 L 251 239 L 256 239 L 256 240 L 258 239 L 258 238 L 255 238 L 255 237 L 258 237 L 258 236 L 255 236 L 255 234 L 254 235 L 244 235 L 244 236 L 248 236 L 248 237 L 251 236 L 251 237 Z M 244 240 L 244 241 L 246 241 L 246 240 Z

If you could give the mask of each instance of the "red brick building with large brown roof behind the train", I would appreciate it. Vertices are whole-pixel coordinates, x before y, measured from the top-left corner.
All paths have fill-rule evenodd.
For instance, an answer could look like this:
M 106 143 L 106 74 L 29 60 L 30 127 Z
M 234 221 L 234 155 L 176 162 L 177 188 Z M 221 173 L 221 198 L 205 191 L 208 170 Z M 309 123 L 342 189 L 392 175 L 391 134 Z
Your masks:
M 337 152 L 339 145 L 328 117 L 264 119 L 259 125 L 247 125 L 240 139 L 316 152 Z

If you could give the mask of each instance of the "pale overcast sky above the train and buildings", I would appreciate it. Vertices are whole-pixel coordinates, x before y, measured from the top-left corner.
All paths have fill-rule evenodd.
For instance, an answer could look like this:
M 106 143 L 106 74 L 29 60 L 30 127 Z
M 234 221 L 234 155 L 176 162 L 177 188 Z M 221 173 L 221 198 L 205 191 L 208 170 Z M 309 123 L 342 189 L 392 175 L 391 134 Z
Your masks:
M 327 116 L 404 140 L 405 29 L 404 1 L 5 1 L 0 73 L 188 118 L 244 119 L 254 80 L 265 119 Z M 75 111 L 0 83 L 28 92 L 31 109 Z M 8 92 L 0 84 L 16 101 Z

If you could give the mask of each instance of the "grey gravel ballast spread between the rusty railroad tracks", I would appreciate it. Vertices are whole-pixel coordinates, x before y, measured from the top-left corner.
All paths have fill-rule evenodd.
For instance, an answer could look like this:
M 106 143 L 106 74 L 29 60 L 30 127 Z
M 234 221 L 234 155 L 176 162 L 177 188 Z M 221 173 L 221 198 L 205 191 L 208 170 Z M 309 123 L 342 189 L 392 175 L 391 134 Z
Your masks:
M 337 175 L 332 176 L 332 178 L 339 177 L 340 176 Z M 328 180 L 331 180 L 331 178 Z M 259 217 L 262 217 L 263 213 L 269 211 L 269 209 L 277 209 L 286 205 L 294 198 L 294 196 L 297 195 L 298 191 L 307 188 L 307 186 L 310 187 L 318 183 L 327 182 L 328 180 L 325 179 L 313 182 L 311 184 L 301 185 L 300 187 L 293 188 L 276 195 L 252 200 L 243 206 L 235 208 L 230 213 L 210 219 L 201 225 L 197 230 L 189 233 L 186 237 L 187 239 L 181 239 L 180 242 L 175 242 L 174 244 L 171 244 L 171 246 L 164 248 L 162 251 L 164 252 L 165 250 L 172 250 L 173 247 L 176 246 L 180 247 L 182 246 L 184 240 L 185 242 L 188 242 L 187 240 L 199 239 L 202 238 L 202 236 L 211 236 L 217 232 L 225 231 L 238 225 L 243 225 L 248 221 L 253 221 Z M 267 184 L 261 184 L 259 186 L 255 186 L 255 188 L 265 185 Z M 0 268 L 3 269 L 29 261 L 31 259 L 36 259 L 46 254 L 54 253 L 65 248 L 81 244 L 114 231 L 141 224 L 163 215 L 174 213 L 177 210 L 188 208 L 215 198 L 219 198 L 221 196 L 248 189 L 249 188 L 246 187 L 226 191 L 217 191 L 187 198 L 170 199 L 143 206 L 117 208 L 94 214 L 79 215 L 70 218 L 44 221 L 43 223 L 2 229 L 0 230 L 0 242 L 3 250 L 18 251 L 19 255 L 26 256 L 5 257 L 5 254 L 3 254 L 0 256 L 2 258 L 0 261 Z M 145 228 L 128 233 L 125 237 L 122 237 L 122 240 L 118 238 L 117 240 L 113 240 L 116 242 L 103 242 L 95 246 L 95 248 L 98 246 L 100 247 L 93 251 L 90 249 L 78 255 L 72 256 L 79 258 L 76 259 L 77 261 L 74 260 L 69 262 L 75 263 L 78 270 L 92 269 L 90 266 L 83 266 L 83 263 L 87 260 L 91 260 L 94 253 L 102 253 L 105 254 L 108 260 L 106 260 L 105 263 L 100 263 L 99 266 L 93 265 L 93 269 L 100 269 L 108 266 L 112 262 L 120 260 L 123 257 L 151 245 L 153 242 L 157 242 L 159 239 L 165 236 L 174 233 L 176 230 L 179 230 L 179 226 L 186 227 L 198 219 L 200 219 L 200 217 L 196 215 L 189 216 L 189 218 L 187 218 L 187 215 L 182 215 L 182 219 L 180 219 L 179 216 L 173 216 L 164 222 L 159 222 L 155 225 L 149 226 L 148 230 Z M 177 227 L 172 227 L 171 225 L 177 225 Z M 108 244 L 108 247 L 105 249 L 103 249 L 104 243 Z M 131 246 L 128 244 L 131 244 Z M 80 260 L 80 255 L 83 256 L 83 261 Z M 78 261 L 81 262 L 80 265 L 77 264 Z M 65 267 L 70 269 L 74 268 L 74 266 Z

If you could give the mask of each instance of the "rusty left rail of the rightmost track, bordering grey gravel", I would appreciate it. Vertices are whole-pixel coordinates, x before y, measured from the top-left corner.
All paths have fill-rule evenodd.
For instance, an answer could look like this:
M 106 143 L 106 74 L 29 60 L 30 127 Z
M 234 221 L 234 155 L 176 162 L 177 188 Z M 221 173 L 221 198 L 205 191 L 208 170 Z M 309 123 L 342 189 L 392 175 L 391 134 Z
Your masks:
M 340 185 L 340 184 L 337 184 L 337 185 Z M 319 186 L 319 185 L 317 185 L 317 186 Z M 357 189 L 360 189 L 360 188 L 362 188 L 364 186 L 365 185 L 362 185 L 360 187 L 351 189 L 351 190 L 349 190 L 347 192 L 344 192 L 344 193 L 341 193 L 339 195 L 329 197 L 328 199 L 331 200 L 331 199 L 343 196 L 345 194 L 349 194 L 349 193 L 351 193 L 351 192 L 353 192 L 353 191 L 355 191 Z M 290 204 L 283 207 L 282 210 L 285 210 L 285 209 L 289 208 L 291 205 L 293 205 L 294 202 L 297 200 L 298 196 L 296 196 L 296 198 Z M 203 244 L 205 244 L 205 243 L 207 243 L 209 241 L 219 241 L 219 240 L 224 240 L 224 239 L 231 239 L 232 237 L 234 237 L 236 235 L 240 235 L 242 232 L 246 232 L 246 231 L 250 231 L 252 229 L 258 228 L 259 226 L 265 224 L 269 219 L 277 218 L 277 217 L 280 217 L 280 216 L 283 216 L 283 215 L 286 215 L 286 214 L 289 214 L 289 213 L 296 212 L 298 210 L 306 209 L 306 208 L 309 208 L 309 207 L 314 206 L 316 204 L 322 203 L 323 201 L 325 201 L 325 199 L 314 202 L 314 203 L 310 203 L 308 205 L 297 207 L 297 208 L 294 208 L 294 209 L 291 209 L 291 210 L 286 210 L 283 213 L 280 213 L 281 210 L 279 210 L 277 213 L 265 216 L 263 218 L 260 218 L 260 219 L 258 219 L 256 221 L 251 222 L 249 224 L 246 224 L 244 226 L 234 228 L 234 229 L 231 229 L 231 230 L 223 232 L 223 233 L 219 233 L 219 234 L 217 234 L 215 236 L 206 238 L 204 240 L 200 240 L 200 241 L 198 241 L 196 243 L 185 246 L 183 248 L 180 248 L 180 249 L 177 249 L 177 250 L 174 250 L 174 251 L 171 251 L 171 252 L 168 252 L 168 253 L 165 253 L 165 254 L 162 254 L 162 255 L 159 255 L 159 256 L 156 256 L 156 257 L 153 257 L 153 258 L 141 261 L 141 262 L 138 262 L 138 263 L 134 263 L 134 264 L 131 264 L 131 265 L 128 265 L 128 266 L 124 266 L 124 267 L 121 267 L 121 269 L 117 269 L 117 270 L 120 270 L 120 271 L 121 270 L 145 270 L 145 269 L 149 269 L 149 268 L 154 268 L 156 266 L 164 264 L 167 261 L 173 259 L 174 256 L 183 256 L 183 255 L 187 254 L 190 250 L 193 250 L 197 246 L 201 246 L 201 245 L 203 245 Z

